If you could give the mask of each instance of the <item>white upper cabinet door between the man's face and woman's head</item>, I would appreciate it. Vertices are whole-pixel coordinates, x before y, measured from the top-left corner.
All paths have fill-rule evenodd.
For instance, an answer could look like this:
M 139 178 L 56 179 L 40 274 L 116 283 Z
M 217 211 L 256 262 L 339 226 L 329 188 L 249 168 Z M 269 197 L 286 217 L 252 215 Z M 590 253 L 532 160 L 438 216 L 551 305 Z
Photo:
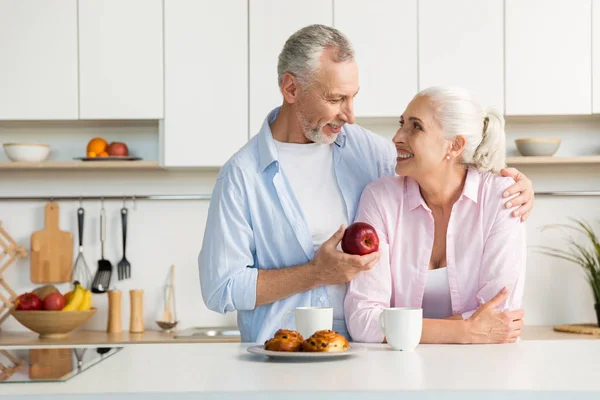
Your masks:
M 399 117 L 417 93 L 417 0 L 335 0 L 334 21 L 356 52 L 356 116 Z

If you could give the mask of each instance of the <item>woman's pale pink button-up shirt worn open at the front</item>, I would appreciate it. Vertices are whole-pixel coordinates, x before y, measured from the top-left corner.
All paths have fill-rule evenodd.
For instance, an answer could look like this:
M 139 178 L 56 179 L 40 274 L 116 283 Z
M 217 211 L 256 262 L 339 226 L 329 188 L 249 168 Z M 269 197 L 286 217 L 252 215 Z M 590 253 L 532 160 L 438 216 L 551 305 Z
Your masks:
M 502 193 L 512 178 L 469 169 L 462 194 L 452 207 L 446 234 L 446 265 L 453 315 L 470 317 L 506 286 L 499 309 L 521 307 L 525 284 L 525 225 L 504 207 Z M 381 257 L 370 271 L 348 284 L 344 302 L 352 339 L 384 339 L 379 315 L 387 307 L 421 307 L 434 221 L 418 183 L 383 177 L 364 190 L 355 221 L 377 230 Z

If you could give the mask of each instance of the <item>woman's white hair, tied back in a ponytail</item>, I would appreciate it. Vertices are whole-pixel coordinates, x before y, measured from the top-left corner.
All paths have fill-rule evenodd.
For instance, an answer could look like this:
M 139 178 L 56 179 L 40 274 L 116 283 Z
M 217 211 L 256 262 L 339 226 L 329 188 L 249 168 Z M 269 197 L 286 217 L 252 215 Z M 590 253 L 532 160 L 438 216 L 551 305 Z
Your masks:
M 415 97 L 420 96 L 431 99 L 434 118 L 446 139 L 465 138 L 464 165 L 492 172 L 506 166 L 504 117 L 497 108 L 484 110 L 467 90 L 459 87 L 434 86 Z

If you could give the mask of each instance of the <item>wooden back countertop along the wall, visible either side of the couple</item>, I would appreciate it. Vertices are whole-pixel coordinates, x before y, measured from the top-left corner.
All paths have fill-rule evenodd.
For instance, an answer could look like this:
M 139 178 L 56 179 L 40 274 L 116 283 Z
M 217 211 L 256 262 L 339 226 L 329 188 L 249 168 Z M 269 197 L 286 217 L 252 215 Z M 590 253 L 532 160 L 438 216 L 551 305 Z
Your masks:
M 556 332 L 551 326 L 525 326 L 521 334 L 522 340 L 598 340 L 600 336 Z M 9 347 L 56 347 L 56 346 L 127 346 L 133 344 L 168 344 L 168 343 L 238 343 L 237 337 L 182 337 L 175 338 L 175 333 L 146 331 L 144 333 L 123 332 L 109 334 L 103 331 L 75 331 L 65 339 L 40 340 L 33 332 L 0 331 L 0 349 Z

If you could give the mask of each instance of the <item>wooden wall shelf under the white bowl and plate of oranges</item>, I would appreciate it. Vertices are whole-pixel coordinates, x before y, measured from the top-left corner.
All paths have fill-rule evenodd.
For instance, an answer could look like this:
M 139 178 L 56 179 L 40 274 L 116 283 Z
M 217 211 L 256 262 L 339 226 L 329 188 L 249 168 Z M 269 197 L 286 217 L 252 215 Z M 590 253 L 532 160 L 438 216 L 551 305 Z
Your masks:
M 41 163 L 0 162 L 0 170 L 31 169 L 162 169 L 158 161 L 44 161 Z

